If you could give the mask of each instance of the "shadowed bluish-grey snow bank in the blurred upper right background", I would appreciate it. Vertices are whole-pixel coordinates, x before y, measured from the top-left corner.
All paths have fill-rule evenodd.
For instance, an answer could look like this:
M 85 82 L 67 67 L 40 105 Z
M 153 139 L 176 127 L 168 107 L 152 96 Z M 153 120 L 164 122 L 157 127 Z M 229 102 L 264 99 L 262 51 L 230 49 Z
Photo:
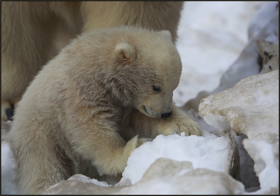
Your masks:
M 279 7 L 276 6 L 277 3 L 278 2 L 269 2 L 264 4 L 264 7 L 270 7 L 272 9 L 265 9 L 271 15 L 271 19 L 263 24 L 263 29 L 258 29 L 259 34 L 251 37 L 239 58 L 222 76 L 220 86 L 209 94 L 232 88 L 240 79 L 259 74 L 260 67 L 257 61 L 259 55 L 257 52 L 257 40 L 264 39 L 268 42 L 279 44 Z M 269 4 L 273 4 L 273 6 Z M 263 11 L 257 13 L 257 15 L 258 14 L 263 14 Z M 250 23 L 252 29 L 255 25 L 259 26 L 260 23 L 260 21 L 255 21 L 255 18 Z

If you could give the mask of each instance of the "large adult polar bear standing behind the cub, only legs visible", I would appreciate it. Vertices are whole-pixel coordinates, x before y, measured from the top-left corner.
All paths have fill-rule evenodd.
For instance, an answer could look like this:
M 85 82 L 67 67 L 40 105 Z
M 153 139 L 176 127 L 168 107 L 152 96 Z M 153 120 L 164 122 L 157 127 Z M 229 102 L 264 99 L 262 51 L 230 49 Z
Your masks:
M 137 25 L 169 30 L 173 42 L 183 2 L 1 1 L 1 120 L 40 68 L 69 40 L 93 29 Z

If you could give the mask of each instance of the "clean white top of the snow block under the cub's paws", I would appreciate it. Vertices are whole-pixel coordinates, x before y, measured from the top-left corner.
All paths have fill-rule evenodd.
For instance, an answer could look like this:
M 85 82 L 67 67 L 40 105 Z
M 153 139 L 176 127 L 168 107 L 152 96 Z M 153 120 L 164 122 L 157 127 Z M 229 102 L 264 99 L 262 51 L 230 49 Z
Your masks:
M 231 162 L 233 151 L 228 134 L 217 137 L 204 131 L 203 137 L 158 135 L 152 142 L 142 144 L 131 153 L 120 182 L 129 179 L 132 184 L 137 183 L 158 158 L 189 161 L 194 169 L 228 172 L 231 170 L 228 162 Z

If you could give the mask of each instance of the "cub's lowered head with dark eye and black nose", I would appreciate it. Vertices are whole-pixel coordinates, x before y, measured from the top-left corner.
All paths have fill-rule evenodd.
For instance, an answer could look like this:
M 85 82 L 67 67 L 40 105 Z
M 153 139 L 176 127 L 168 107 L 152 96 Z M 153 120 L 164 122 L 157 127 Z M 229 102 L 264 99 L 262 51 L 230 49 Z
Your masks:
M 149 117 L 171 116 L 182 63 L 170 32 L 143 30 L 132 34 L 115 45 L 114 55 L 114 79 L 123 103 Z

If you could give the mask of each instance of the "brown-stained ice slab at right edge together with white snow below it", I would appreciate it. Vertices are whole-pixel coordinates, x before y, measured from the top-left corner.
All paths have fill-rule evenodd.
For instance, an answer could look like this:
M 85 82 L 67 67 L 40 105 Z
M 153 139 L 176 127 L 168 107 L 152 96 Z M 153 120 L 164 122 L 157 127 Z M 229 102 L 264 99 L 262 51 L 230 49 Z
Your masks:
M 260 190 L 279 193 L 279 70 L 241 79 L 233 88 L 201 100 L 199 114 L 221 131 L 245 134 Z

